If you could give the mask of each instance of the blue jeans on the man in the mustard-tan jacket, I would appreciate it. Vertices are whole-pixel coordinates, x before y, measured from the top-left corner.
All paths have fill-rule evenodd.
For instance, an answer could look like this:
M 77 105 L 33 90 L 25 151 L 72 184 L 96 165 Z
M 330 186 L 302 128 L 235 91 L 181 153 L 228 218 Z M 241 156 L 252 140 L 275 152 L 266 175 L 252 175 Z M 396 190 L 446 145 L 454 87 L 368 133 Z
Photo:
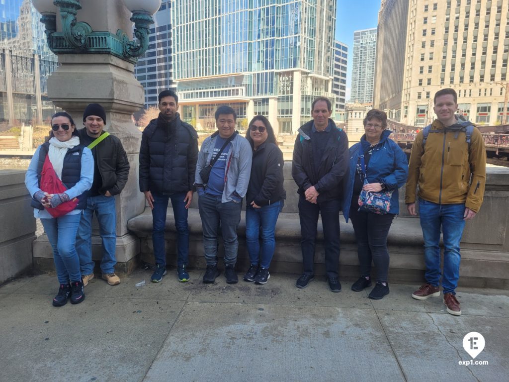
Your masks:
M 440 285 L 440 228 L 443 232 L 444 293 L 455 294 L 460 278 L 460 241 L 465 221 L 465 204 L 436 204 L 419 198 L 420 226 L 424 238 L 426 281 Z

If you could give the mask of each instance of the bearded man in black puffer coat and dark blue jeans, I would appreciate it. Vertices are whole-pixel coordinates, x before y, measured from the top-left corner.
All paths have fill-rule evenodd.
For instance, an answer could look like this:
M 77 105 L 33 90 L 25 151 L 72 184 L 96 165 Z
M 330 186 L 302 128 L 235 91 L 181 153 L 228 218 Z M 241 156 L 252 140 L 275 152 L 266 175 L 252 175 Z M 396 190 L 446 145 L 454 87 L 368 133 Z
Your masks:
M 168 199 L 172 200 L 177 229 L 178 278 L 181 282 L 189 280 L 187 209 L 194 191 L 198 134 L 191 125 L 180 120 L 178 102 L 177 94 L 171 90 L 159 93 L 159 117 L 150 121 L 143 131 L 139 149 L 139 190 L 152 209 L 156 270 L 151 280 L 154 283 L 166 275 L 164 226 Z

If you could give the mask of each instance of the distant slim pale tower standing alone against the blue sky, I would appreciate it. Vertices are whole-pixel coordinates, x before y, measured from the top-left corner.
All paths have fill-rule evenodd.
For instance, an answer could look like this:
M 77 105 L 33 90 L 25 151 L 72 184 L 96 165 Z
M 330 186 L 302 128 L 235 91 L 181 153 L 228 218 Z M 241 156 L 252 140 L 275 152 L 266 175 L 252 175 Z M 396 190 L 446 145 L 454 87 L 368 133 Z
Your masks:
M 353 33 L 352 84 L 350 101 L 373 102 L 373 81 L 377 50 L 377 29 Z

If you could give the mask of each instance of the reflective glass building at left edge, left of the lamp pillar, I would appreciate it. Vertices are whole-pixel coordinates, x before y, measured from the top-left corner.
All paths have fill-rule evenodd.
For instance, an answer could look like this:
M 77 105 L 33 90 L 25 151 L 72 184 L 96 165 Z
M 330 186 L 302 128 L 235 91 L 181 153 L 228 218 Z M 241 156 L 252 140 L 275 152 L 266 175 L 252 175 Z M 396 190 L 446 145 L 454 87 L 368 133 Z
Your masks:
M 0 123 L 42 123 L 55 108 L 46 81 L 56 70 L 41 15 L 30 0 L 0 1 Z

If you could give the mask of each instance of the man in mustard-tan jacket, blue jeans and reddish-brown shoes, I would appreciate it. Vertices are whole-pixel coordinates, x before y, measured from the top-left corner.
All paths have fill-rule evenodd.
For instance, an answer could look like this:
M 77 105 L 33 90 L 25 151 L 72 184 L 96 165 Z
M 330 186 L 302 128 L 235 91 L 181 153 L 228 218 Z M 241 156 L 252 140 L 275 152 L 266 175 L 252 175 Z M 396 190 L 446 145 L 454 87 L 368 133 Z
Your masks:
M 458 96 L 454 89 L 435 94 L 437 119 L 421 130 L 412 146 L 405 203 L 416 215 L 416 186 L 420 225 L 424 238 L 426 284 L 412 297 L 425 300 L 440 296 L 440 232 L 443 232 L 442 287 L 447 312 L 461 315 L 455 296 L 460 277 L 460 241 L 465 221 L 483 203 L 486 183 L 486 150 L 479 130 L 456 118 Z

